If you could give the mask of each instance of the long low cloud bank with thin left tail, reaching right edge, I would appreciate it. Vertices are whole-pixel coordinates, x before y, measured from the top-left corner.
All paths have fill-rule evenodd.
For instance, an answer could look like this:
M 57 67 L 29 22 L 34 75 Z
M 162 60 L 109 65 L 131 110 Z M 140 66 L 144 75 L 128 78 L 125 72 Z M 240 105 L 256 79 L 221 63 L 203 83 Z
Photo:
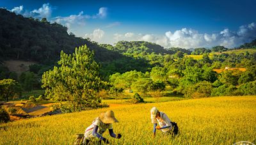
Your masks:
M 114 34 L 113 38 L 116 41 L 149 41 L 165 48 L 198 48 L 217 45 L 234 48 L 256 38 L 256 24 L 242 25 L 237 31 L 224 29 L 223 31 L 212 34 L 200 33 L 193 29 L 183 28 L 174 32 L 167 31 L 162 36 L 127 32 L 126 34 Z

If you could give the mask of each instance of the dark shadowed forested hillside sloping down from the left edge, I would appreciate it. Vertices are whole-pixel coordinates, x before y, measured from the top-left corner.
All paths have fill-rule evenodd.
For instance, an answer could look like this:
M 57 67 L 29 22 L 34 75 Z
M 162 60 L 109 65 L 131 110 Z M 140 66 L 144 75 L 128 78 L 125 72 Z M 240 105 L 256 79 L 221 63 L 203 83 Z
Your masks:
M 86 44 L 95 52 L 99 62 L 119 59 L 122 55 L 108 51 L 87 39 L 67 33 L 67 27 L 42 20 L 24 18 L 0 9 L 0 57 L 3 59 L 33 60 L 52 64 L 60 57 L 60 51 L 74 52 L 74 48 Z

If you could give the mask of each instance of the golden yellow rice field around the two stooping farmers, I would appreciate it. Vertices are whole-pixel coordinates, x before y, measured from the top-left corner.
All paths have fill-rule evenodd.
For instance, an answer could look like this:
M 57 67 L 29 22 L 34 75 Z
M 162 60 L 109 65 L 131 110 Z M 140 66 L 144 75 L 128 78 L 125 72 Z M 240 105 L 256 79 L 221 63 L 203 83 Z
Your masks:
M 157 130 L 152 138 L 150 109 L 156 106 L 179 125 L 176 137 Z M 0 125 L 0 144 L 72 144 L 93 118 L 112 109 L 120 123 L 113 125 L 121 139 L 111 144 L 234 144 L 256 143 L 256 96 L 211 97 L 147 104 L 120 104 L 105 109 L 31 118 Z

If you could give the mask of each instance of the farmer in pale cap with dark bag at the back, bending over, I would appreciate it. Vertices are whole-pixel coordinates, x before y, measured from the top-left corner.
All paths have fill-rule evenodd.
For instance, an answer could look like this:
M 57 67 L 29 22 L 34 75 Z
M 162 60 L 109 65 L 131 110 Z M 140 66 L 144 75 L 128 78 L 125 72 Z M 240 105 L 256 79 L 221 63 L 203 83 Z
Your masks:
M 165 113 L 159 112 L 156 107 L 152 107 L 150 113 L 151 121 L 154 124 L 153 137 L 156 136 L 156 129 L 161 130 L 164 134 L 178 134 L 177 123 L 172 122 Z M 157 126 L 157 123 L 159 126 Z

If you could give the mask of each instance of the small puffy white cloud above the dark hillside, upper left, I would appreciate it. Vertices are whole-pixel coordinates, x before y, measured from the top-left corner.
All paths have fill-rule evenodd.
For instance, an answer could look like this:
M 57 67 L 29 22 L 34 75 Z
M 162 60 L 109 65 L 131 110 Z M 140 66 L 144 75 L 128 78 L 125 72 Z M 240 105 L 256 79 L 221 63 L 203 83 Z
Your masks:
M 31 15 L 38 18 L 50 18 L 52 14 L 52 7 L 49 3 L 43 4 L 38 10 L 31 11 Z

